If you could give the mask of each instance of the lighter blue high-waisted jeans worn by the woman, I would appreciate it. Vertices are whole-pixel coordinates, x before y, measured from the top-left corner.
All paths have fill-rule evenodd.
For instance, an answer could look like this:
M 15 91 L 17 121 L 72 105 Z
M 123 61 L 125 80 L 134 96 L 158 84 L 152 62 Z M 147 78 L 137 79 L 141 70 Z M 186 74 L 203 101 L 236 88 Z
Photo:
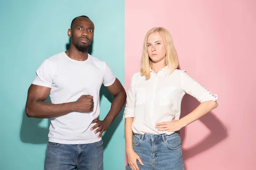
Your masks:
M 140 170 L 184 170 L 179 133 L 134 134 L 132 144 L 144 164 L 137 161 Z M 131 170 L 128 164 L 125 169 Z

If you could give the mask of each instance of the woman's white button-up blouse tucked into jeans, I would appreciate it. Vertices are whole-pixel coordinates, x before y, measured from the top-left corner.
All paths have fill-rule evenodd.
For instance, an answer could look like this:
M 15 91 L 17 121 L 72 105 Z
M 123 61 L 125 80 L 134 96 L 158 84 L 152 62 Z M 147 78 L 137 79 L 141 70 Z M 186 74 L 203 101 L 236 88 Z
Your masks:
M 134 133 L 170 135 L 173 132 L 158 131 L 156 123 L 178 120 L 181 100 L 186 93 L 199 102 L 218 99 L 183 70 L 176 69 L 171 75 L 167 66 L 157 74 L 151 70 L 148 80 L 140 72 L 136 73 L 131 78 L 127 93 L 124 119 L 134 118 Z

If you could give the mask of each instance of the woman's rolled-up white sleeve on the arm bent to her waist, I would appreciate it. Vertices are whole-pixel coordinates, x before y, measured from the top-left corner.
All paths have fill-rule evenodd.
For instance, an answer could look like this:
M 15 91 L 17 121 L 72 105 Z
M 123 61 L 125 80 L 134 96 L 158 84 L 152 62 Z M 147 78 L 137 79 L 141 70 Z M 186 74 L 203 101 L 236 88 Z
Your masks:
M 198 82 L 196 82 L 192 77 L 190 77 L 186 71 L 182 72 L 181 82 L 183 91 L 187 94 L 195 97 L 199 102 L 205 101 L 216 101 L 218 96 L 212 94 L 206 88 L 202 87 Z

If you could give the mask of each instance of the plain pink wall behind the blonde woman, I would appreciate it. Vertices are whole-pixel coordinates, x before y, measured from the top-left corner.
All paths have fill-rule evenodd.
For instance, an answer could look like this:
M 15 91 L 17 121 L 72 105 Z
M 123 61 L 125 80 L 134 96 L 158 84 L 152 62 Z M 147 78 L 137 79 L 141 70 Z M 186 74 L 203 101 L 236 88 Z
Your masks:
M 180 69 L 218 94 L 218 108 L 181 130 L 186 170 L 253 170 L 255 0 L 126 0 L 125 89 L 152 27 L 172 34 Z M 182 116 L 199 102 L 185 95 Z M 126 165 L 126 160 L 125 160 Z

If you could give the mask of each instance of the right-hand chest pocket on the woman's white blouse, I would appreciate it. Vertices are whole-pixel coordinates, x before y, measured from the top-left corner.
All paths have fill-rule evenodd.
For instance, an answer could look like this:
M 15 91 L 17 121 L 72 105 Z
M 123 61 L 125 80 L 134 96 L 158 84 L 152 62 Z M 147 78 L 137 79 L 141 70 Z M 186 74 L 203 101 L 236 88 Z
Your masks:
M 174 104 L 177 87 L 162 88 L 159 92 L 159 105 L 169 106 Z

